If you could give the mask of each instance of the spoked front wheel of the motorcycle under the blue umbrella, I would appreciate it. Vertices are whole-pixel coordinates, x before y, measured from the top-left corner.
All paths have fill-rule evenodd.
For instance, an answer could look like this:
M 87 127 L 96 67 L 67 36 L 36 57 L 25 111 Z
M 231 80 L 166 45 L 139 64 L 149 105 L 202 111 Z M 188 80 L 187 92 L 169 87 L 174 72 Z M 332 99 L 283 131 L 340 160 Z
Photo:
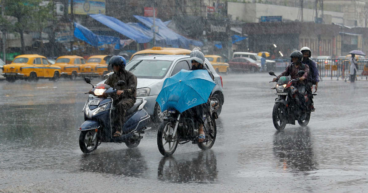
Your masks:
M 165 157 L 170 157 L 178 146 L 177 132 L 173 133 L 174 127 L 174 123 L 164 120 L 161 122 L 157 132 L 157 147 Z

